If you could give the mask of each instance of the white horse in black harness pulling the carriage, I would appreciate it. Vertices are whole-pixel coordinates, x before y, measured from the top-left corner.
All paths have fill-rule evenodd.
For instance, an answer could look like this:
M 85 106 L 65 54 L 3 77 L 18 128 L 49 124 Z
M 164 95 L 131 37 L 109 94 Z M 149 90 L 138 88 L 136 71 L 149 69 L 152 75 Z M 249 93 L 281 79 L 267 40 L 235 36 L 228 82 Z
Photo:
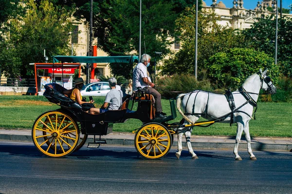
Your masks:
M 180 124 L 188 125 L 194 124 L 200 116 L 208 120 L 217 120 L 223 123 L 237 123 L 236 144 L 234 147 L 235 160 L 242 160 L 238 155 L 237 149 L 241 139 L 242 131 L 244 131 L 247 150 L 251 160 L 256 160 L 251 148 L 251 137 L 249 133 L 249 121 L 252 119 L 253 109 L 256 106 L 258 93 L 260 89 L 267 91 L 269 94 L 276 93 L 276 88 L 271 82 L 271 78 L 266 75 L 267 70 L 262 72 L 260 69 L 258 73 L 249 76 L 246 81 L 239 88 L 239 91 L 233 92 L 234 97 L 234 113 L 224 95 L 213 94 L 206 91 L 193 91 L 188 94 L 181 94 L 177 97 L 176 106 L 179 112 L 183 115 L 183 120 Z M 182 110 L 181 110 L 182 107 Z M 233 119 L 232 119 L 233 117 Z M 178 128 L 178 151 L 176 157 L 181 156 L 182 136 L 185 135 L 189 153 L 193 159 L 198 156 L 194 153 L 191 142 L 192 127 Z

